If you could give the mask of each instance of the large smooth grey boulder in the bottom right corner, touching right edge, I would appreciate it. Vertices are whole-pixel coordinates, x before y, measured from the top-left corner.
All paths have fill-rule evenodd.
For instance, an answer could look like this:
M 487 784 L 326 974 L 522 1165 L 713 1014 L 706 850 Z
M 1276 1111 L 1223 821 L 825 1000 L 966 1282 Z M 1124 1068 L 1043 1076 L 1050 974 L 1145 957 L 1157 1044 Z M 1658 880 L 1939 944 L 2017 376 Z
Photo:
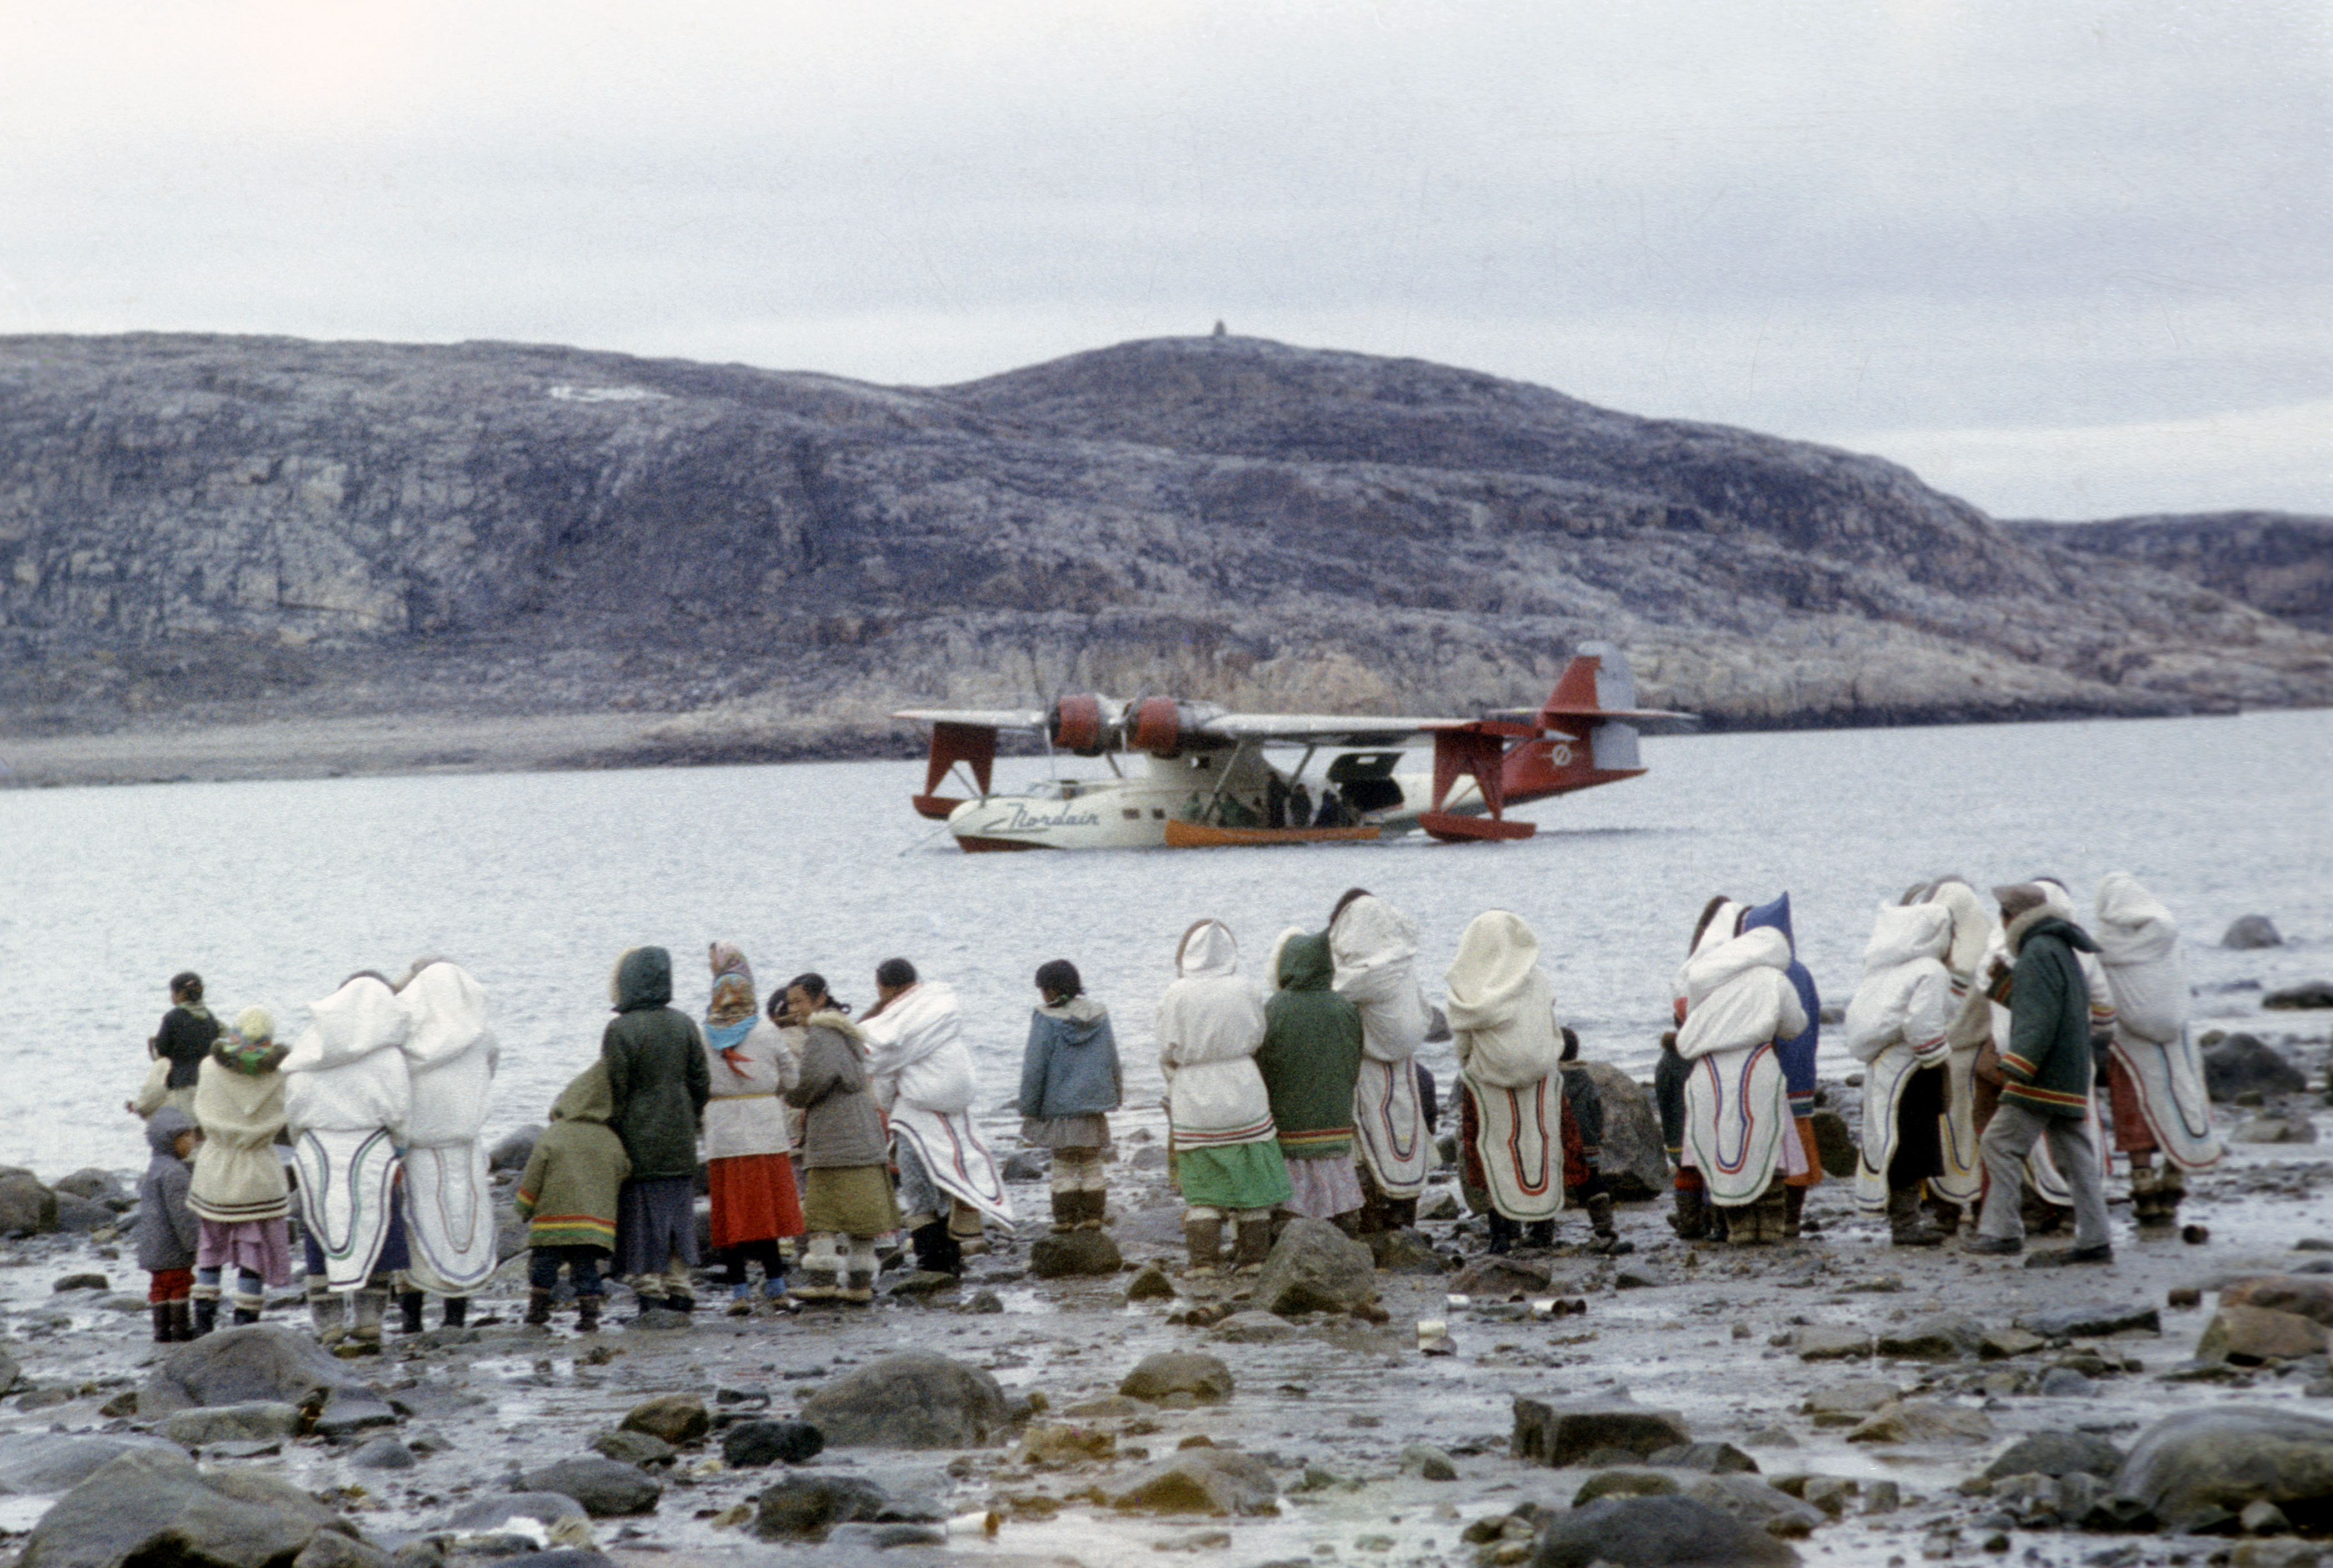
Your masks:
M 2181 1526 L 2275 1503 L 2296 1528 L 2333 1528 L 2333 1421 L 2261 1405 L 2184 1409 L 2139 1433 L 2114 1489 Z

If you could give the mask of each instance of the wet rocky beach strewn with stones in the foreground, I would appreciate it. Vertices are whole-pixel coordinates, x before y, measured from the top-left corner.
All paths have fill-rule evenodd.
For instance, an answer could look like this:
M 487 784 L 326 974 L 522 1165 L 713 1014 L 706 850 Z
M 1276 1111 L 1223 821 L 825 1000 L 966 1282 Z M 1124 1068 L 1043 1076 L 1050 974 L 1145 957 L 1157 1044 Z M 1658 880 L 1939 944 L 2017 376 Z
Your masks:
M 432 1302 L 425 1332 L 343 1360 L 296 1293 L 257 1328 L 152 1344 L 133 1174 L 82 1171 L 33 1199 L 63 1230 L 0 1241 L 0 1552 L 2333 1561 L 2333 1153 L 2312 1141 L 2333 1115 L 2326 1034 L 2293 1022 L 2254 1036 L 2300 1087 L 2228 1087 L 2249 1104 L 2221 1108 L 2230 1157 L 2191 1176 L 2184 1237 L 2142 1237 L 2111 1183 L 2111 1267 L 1892 1248 L 1836 1178 L 1794 1244 L 1684 1244 L 1642 1197 L 1619 1206 L 1626 1255 L 1586 1251 L 1568 1211 L 1558 1246 L 1486 1258 L 1442 1169 L 1374 1267 L 1299 1223 L 1260 1276 L 1194 1279 L 1160 1127 L 1127 1115 L 1111 1244 L 1050 1237 L 1024 1157 L 1029 1218 L 961 1281 L 903 1260 L 873 1307 L 749 1318 L 707 1286 L 644 1323 L 618 1293 L 579 1337 L 572 1309 L 518 1323 L 511 1258 L 467 1328 Z M 1642 1160 L 1635 1111 L 1607 1169 Z M 0 1176 L 0 1220 L 33 1181 Z M 2258 1496 L 2191 1475 L 2209 1456 Z

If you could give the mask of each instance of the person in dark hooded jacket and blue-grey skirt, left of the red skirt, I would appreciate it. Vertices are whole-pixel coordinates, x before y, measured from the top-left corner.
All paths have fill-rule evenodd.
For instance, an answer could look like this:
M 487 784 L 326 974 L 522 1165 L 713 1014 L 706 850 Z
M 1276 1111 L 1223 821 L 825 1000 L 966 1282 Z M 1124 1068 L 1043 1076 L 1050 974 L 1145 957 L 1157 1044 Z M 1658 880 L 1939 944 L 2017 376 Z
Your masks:
M 705 1038 L 672 1001 L 672 954 L 632 947 L 609 982 L 616 1017 L 600 1034 L 611 1099 L 632 1176 L 616 1204 L 616 1272 L 639 1309 L 693 1311 L 698 1265 L 698 1125 L 712 1097 Z

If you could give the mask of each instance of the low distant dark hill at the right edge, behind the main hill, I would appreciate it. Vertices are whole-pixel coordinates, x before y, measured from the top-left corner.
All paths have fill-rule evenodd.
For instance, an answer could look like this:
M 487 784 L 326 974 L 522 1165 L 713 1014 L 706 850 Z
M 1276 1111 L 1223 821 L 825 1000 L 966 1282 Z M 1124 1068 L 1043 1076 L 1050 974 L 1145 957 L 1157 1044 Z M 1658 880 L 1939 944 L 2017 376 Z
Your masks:
M 2293 625 L 2333 632 L 2333 518 L 2209 511 L 2004 527 L 2027 544 L 2163 567 Z

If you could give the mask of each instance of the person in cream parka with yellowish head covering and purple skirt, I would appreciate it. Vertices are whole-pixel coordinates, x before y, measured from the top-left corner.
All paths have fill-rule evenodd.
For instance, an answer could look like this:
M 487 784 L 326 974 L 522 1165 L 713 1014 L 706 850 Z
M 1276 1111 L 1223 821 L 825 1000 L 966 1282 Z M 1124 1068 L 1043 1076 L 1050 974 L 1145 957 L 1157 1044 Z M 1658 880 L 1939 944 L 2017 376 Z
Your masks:
M 287 1045 L 275 1043 L 275 1017 L 245 1008 L 203 1057 L 194 1083 L 194 1120 L 203 1143 L 187 1183 L 187 1206 L 203 1223 L 194 1253 L 194 1337 L 219 1321 L 222 1279 L 236 1269 L 233 1321 L 257 1323 L 268 1286 L 292 1283 L 292 1183 L 275 1157 L 285 1129 Z

